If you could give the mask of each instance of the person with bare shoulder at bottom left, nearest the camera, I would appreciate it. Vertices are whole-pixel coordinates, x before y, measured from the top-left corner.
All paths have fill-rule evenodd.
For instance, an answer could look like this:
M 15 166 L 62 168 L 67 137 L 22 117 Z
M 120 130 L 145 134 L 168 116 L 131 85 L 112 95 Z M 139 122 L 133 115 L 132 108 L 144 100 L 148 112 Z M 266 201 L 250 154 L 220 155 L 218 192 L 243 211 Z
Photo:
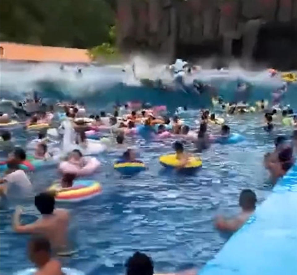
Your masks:
M 42 236 L 32 237 L 28 243 L 29 259 L 37 267 L 34 275 L 64 275 L 61 263 L 52 258 L 51 245 L 47 238 Z

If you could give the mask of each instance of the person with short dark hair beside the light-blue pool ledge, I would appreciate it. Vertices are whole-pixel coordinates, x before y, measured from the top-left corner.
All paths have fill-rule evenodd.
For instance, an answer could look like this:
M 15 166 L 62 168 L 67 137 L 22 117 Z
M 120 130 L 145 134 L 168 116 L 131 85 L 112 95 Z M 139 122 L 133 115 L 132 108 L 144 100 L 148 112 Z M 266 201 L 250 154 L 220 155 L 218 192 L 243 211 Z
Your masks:
M 245 189 L 241 191 L 239 196 L 239 206 L 241 207 L 241 213 L 233 219 L 226 219 L 224 217 L 218 216 L 215 222 L 217 229 L 237 231 L 254 213 L 256 209 L 256 202 L 256 194 L 252 190 Z

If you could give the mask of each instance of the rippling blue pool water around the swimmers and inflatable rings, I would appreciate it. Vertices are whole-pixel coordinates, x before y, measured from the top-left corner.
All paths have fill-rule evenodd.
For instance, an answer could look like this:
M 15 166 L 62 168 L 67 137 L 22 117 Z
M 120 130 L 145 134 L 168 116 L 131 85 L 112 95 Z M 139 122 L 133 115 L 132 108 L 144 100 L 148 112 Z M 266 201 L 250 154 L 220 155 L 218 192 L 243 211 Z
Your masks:
M 42 86 L 46 97 L 51 95 L 50 88 L 56 87 L 53 81 L 48 80 L 48 83 L 51 84 L 47 84 L 48 89 Z M 231 97 L 231 88 L 229 91 L 226 87 L 235 86 L 235 82 L 223 84 L 220 84 L 224 87 L 222 93 Z M 19 97 L 20 92 L 7 87 L 2 89 L 6 95 Z M 171 96 L 160 90 L 122 84 L 104 89 L 104 92 L 92 95 L 92 101 L 96 102 L 85 100 L 91 109 L 95 110 L 96 105 L 112 105 L 116 100 L 131 99 L 154 104 L 168 102 L 170 108 L 177 104 L 197 106 L 209 103 L 206 97 L 190 97 L 183 93 Z M 267 87 L 264 92 L 261 89 L 262 86 L 256 86 L 254 98 L 261 98 L 259 93 L 268 95 L 271 91 Z M 290 89 L 291 97 L 287 101 L 292 105 L 296 101 L 296 86 Z M 64 97 L 65 93 L 52 91 L 52 95 L 58 98 L 58 95 Z M 194 126 L 194 118 L 195 112 L 192 112 L 186 119 L 187 124 Z M 148 167 L 132 178 L 122 178 L 114 171 L 113 163 L 119 153 L 99 155 L 100 171 L 88 178 L 102 184 L 102 194 L 81 203 L 57 205 L 72 211 L 70 239 L 78 250 L 72 258 L 62 259 L 63 265 L 83 270 L 86 274 L 123 274 L 127 258 L 141 250 L 153 258 L 156 272 L 168 273 L 193 266 L 200 269 L 230 237 L 214 228 L 214 216 L 236 213 L 239 192 L 243 188 L 254 190 L 259 203 L 271 192 L 268 174 L 262 165 L 263 155 L 273 150 L 273 139 L 277 134 L 291 135 L 291 129 L 278 128 L 268 134 L 260 127 L 262 121 L 263 114 L 227 118 L 231 131 L 244 135 L 245 141 L 213 144 L 202 153 L 203 166 L 195 176 L 164 172 L 158 157 L 172 152 L 170 140 L 146 143 L 138 137 L 129 138 L 128 143 L 138 146 L 140 159 Z M 216 132 L 218 128 L 213 127 L 212 131 Z M 14 130 L 13 134 L 16 143 L 21 145 L 34 138 L 22 129 Z M 37 171 L 30 174 L 30 178 L 39 192 L 58 178 L 57 169 Z M 1 274 L 31 266 L 25 248 L 28 236 L 12 231 L 12 209 L 13 202 L 10 210 L 0 212 Z M 23 222 L 31 222 L 37 217 L 32 202 L 24 202 L 24 214 Z

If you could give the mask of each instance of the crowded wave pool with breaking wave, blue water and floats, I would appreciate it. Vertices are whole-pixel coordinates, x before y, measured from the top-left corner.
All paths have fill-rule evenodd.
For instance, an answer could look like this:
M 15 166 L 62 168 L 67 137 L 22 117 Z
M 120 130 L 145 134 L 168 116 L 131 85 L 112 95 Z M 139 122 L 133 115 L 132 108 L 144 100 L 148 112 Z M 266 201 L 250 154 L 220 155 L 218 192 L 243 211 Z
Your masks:
M 34 196 L 55 190 L 54 182 L 78 169 L 67 163 L 69 159 L 62 159 L 63 153 L 79 149 L 84 168 L 89 165 L 87 172 L 80 168 L 76 173 L 73 186 L 57 189 L 64 194 L 55 193 L 55 207 L 70 213 L 67 242 L 71 253 L 59 260 L 62 266 L 85 274 L 124 274 L 127 259 L 136 251 L 152 258 L 156 274 L 187 269 L 199 273 L 232 235 L 217 228 L 216 217 L 237 215 L 243 190 L 256 194 L 257 206 L 271 195 L 276 181 L 271 180 L 264 156 L 274 152 L 278 137 L 293 144 L 292 156 L 284 161 L 290 166 L 285 172 L 294 163 L 296 82 L 285 84 L 286 91 L 276 104 L 273 92 L 284 83 L 267 71 L 202 70 L 190 78 L 191 85 L 195 77 L 201 79 L 200 85 L 213 89 L 193 92 L 191 85 L 181 83 L 173 89 L 131 82 L 127 70 L 120 67 L 86 67 L 77 76 L 71 66 L 62 72 L 56 64 L 2 65 L 0 111 L 17 124 L 2 122 L 0 131 L 11 133 L 15 146 L 27 148 L 26 162 L 21 165 L 33 191 L 24 198 L 10 198 L 8 193 L 1 197 L 1 274 L 33 267 L 26 249 L 30 234 L 15 232 L 12 216 L 16 205 L 21 205 L 21 224 L 41 217 Z M 251 84 L 248 92 L 240 90 L 238 79 Z M 28 98 L 37 99 L 36 104 L 46 110 L 22 107 L 20 111 L 17 102 Z M 48 109 L 51 105 L 54 109 Z M 73 109 L 77 114 L 85 111 L 75 118 L 70 114 Z M 50 121 L 33 119 L 34 113 L 45 111 L 53 115 Z M 70 129 L 73 123 L 76 131 Z M 224 126 L 228 126 L 226 136 Z M 78 144 L 72 144 L 71 133 L 80 139 Z M 48 137 L 48 153 L 59 158 L 36 157 L 39 134 Z M 184 164 L 180 164 L 183 158 L 177 158 L 180 147 Z M 14 149 L 1 149 L 0 174 L 5 178 L 5 169 L 10 167 L 7 153 L 13 155 Z

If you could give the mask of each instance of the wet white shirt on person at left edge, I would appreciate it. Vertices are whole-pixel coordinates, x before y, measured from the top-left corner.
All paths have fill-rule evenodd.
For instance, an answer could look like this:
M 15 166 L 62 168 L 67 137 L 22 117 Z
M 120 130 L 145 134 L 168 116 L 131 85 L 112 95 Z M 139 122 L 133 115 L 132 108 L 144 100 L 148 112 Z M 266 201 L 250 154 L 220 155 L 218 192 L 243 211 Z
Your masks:
M 16 170 L 4 177 L 7 194 L 13 197 L 27 197 L 32 194 L 32 184 L 23 170 Z

